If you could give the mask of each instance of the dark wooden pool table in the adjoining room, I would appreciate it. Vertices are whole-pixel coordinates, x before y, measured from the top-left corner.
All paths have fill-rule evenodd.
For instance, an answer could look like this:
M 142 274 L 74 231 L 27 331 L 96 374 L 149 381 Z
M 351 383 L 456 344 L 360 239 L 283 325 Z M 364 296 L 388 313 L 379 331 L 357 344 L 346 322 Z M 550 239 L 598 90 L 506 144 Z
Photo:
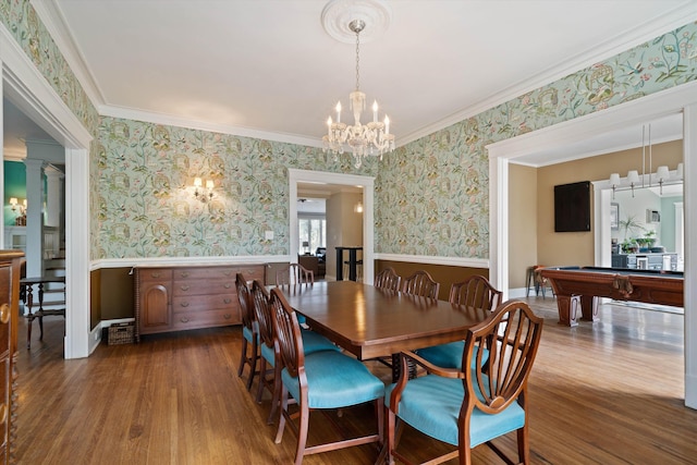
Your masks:
M 557 295 L 559 322 L 598 319 L 598 297 L 682 307 L 683 273 L 601 267 L 549 267 L 540 270 Z M 580 310 L 580 311 L 579 311 Z

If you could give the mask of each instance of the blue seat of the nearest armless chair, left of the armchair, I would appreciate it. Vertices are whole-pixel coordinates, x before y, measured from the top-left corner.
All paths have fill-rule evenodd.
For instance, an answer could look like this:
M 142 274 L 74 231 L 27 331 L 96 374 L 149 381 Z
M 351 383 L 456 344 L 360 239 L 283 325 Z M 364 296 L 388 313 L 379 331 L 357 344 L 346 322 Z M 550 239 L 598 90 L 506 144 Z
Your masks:
M 384 395 L 384 384 L 364 364 L 335 351 L 305 355 L 309 408 L 339 408 L 375 401 Z M 297 377 L 283 369 L 283 384 L 299 400 Z

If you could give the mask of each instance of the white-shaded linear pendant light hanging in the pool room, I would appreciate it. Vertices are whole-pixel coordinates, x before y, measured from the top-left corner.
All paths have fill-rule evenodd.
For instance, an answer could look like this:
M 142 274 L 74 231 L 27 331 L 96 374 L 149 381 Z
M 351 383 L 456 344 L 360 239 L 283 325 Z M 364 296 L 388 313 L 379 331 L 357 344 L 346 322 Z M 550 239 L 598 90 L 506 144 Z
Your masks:
M 656 185 L 659 186 L 660 195 L 663 195 L 663 186 L 670 184 L 683 183 L 683 163 L 677 163 L 675 171 L 671 171 L 667 166 L 658 167 L 656 173 L 652 172 L 652 147 L 651 147 L 651 125 L 648 125 L 648 154 L 646 143 L 646 125 L 641 126 L 641 174 L 638 170 L 629 170 L 627 172 L 626 180 L 620 178 L 620 173 L 610 174 L 610 185 L 612 186 L 612 198 L 616 191 L 632 189 L 632 197 L 634 197 L 634 189 L 636 188 L 650 188 Z M 647 158 L 648 155 L 648 158 Z M 648 159 L 648 172 L 646 170 Z

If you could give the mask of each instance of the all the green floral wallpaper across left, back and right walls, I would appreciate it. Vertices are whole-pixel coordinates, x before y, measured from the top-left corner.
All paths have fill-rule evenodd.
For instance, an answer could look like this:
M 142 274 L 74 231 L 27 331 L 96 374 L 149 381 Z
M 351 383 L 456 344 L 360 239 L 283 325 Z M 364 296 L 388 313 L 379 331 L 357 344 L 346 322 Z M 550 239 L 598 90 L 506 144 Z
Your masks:
M 288 168 L 376 175 L 378 253 L 488 258 L 486 145 L 697 78 L 690 23 L 355 170 L 311 147 L 100 119 L 28 0 L 2 1 L 0 21 L 95 136 L 93 259 L 288 254 Z

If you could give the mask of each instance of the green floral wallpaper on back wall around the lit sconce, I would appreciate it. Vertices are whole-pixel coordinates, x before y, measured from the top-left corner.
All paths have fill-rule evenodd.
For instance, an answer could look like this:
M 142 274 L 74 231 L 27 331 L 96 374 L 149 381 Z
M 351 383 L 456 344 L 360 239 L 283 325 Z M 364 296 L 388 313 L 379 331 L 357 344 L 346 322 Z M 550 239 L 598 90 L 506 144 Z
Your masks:
M 376 159 L 354 172 L 348 155 L 113 118 L 99 140 L 98 258 L 288 255 L 288 168 L 377 171 Z M 194 178 L 213 182 L 210 200 Z

